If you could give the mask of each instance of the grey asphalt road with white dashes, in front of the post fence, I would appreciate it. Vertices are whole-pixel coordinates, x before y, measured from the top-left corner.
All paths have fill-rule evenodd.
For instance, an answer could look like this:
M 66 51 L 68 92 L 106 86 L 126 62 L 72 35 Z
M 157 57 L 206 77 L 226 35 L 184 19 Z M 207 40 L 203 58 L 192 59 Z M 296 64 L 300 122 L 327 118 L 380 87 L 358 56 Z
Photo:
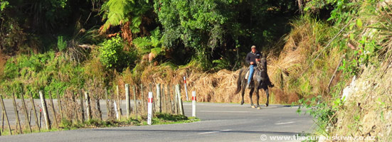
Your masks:
M 260 136 L 293 136 L 312 132 L 312 117 L 295 113 L 297 107 L 198 103 L 202 121 L 189 124 L 80 129 L 0 136 L 0 141 L 261 141 Z M 191 104 L 184 103 L 187 116 Z

